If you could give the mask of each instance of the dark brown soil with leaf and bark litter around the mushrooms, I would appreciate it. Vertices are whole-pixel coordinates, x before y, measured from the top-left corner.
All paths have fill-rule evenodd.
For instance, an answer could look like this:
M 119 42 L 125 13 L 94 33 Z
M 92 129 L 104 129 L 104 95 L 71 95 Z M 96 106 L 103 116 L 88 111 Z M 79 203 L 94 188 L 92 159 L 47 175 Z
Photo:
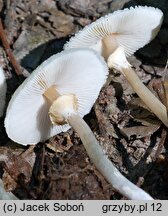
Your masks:
M 168 4 L 166 0 L 0 0 L 1 20 L 22 68 L 32 72 L 60 52 L 75 32 L 124 7 L 148 5 L 164 12 L 158 36 L 129 61 L 141 80 L 166 104 Z M 24 76 L 16 75 L 0 47 L 7 78 L 8 102 Z M 91 112 L 84 117 L 115 166 L 155 199 L 168 199 L 166 127 L 147 109 L 124 76 L 111 71 Z M 90 161 L 78 135 L 70 129 L 45 143 L 21 146 L 10 140 L 0 119 L 0 177 L 19 199 L 126 199 Z

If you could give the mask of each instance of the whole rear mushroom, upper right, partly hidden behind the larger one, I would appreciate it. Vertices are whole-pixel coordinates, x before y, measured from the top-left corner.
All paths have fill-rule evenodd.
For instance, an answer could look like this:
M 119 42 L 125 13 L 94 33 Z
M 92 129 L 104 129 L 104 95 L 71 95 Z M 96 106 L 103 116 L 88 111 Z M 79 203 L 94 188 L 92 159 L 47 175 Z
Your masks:
M 118 10 L 86 26 L 64 49 L 89 47 L 96 50 L 106 59 L 109 68 L 125 75 L 137 95 L 168 126 L 166 107 L 141 82 L 126 60 L 157 35 L 162 20 L 162 11 L 153 7 Z

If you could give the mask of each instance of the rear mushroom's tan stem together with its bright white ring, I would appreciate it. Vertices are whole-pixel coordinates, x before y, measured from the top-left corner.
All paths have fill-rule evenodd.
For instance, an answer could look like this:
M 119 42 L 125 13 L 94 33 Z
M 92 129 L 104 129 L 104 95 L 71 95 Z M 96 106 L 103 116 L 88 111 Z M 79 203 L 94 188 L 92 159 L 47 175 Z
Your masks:
M 129 84 L 151 111 L 168 127 L 166 107 L 157 97 L 141 82 L 131 65 L 127 61 L 122 47 L 111 54 L 107 60 L 109 68 L 115 68 L 122 72 Z

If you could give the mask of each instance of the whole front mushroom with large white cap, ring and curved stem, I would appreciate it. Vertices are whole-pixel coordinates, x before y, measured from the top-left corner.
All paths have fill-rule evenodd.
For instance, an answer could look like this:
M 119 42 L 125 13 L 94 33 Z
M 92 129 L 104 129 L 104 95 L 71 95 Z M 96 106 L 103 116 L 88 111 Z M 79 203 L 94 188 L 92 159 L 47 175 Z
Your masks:
M 130 199 L 152 199 L 114 167 L 82 119 L 107 75 L 103 58 L 93 50 L 73 49 L 50 57 L 14 93 L 7 108 L 6 132 L 26 145 L 44 141 L 71 126 L 92 162 L 115 189 Z

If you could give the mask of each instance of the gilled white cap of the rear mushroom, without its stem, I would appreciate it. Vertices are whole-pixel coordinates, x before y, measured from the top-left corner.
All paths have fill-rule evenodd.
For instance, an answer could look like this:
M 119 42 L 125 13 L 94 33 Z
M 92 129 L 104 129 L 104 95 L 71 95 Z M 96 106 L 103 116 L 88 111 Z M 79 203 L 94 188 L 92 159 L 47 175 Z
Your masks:
M 90 47 L 102 54 L 102 39 L 113 36 L 109 44 L 111 53 L 121 46 L 129 56 L 156 36 L 162 19 L 162 11 L 153 7 L 118 10 L 86 26 L 65 44 L 64 49 Z

